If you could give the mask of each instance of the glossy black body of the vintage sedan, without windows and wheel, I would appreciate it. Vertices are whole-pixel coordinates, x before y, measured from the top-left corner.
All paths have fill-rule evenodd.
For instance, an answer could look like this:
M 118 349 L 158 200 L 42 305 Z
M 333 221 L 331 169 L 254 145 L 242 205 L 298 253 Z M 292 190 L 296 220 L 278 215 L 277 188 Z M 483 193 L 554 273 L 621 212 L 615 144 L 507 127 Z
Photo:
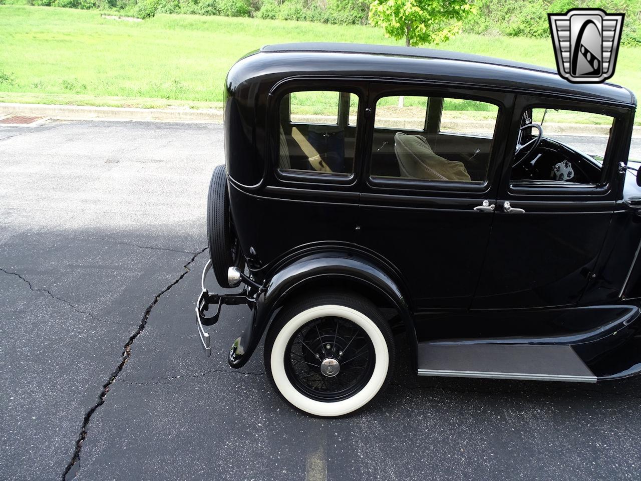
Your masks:
M 296 89 L 360 98 L 353 174 L 279 171 L 278 105 Z M 499 105 L 494 144 L 484 152 L 485 182 L 444 187 L 369 176 L 376 99 L 421 92 L 489 97 Z M 564 192 L 510 183 L 520 112 L 541 101 L 617 119 L 603 183 Z M 569 84 L 542 67 L 429 49 L 287 44 L 248 54 L 226 79 L 226 167 L 240 247 L 262 287 L 230 365 L 247 362 L 298 289 L 336 282 L 371 289 L 397 310 L 414 367 L 419 342 L 574 346 L 579 339 L 581 359 L 599 378 L 636 373 L 633 361 L 610 363 L 622 366 L 617 374 L 603 359 L 617 346 L 637 345 L 637 322 L 616 331 L 626 336 L 581 338 L 609 329 L 617 312 L 636 308 L 626 300 L 641 298 L 641 188 L 635 173 L 619 168 L 627 163 L 636 103 L 617 85 Z M 483 201 L 495 212 L 475 212 Z M 503 212 L 506 201 L 525 213 Z M 573 319 L 570 331 L 559 318 Z

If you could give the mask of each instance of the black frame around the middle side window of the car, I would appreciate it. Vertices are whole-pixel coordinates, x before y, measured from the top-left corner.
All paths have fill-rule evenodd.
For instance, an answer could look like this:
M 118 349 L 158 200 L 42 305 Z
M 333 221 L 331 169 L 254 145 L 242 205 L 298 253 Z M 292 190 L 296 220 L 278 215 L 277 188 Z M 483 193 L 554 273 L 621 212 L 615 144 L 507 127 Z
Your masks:
M 497 135 L 504 128 L 508 128 L 512 119 L 512 102 L 514 94 L 512 92 L 501 92 L 501 90 L 492 90 L 484 88 L 452 88 L 443 87 L 440 85 L 426 85 L 425 82 L 399 82 L 395 81 L 394 85 L 389 85 L 384 82 L 370 84 L 370 100 L 368 107 L 372 109 L 371 121 L 369 122 L 369 129 L 367 140 L 365 140 L 363 147 L 363 155 L 367 157 L 363 170 L 363 179 L 367 185 L 375 190 L 400 190 L 411 194 L 412 191 L 417 194 L 435 194 L 438 192 L 467 192 L 467 193 L 480 193 L 488 192 L 492 189 L 492 185 L 496 185 L 495 175 L 502 165 L 504 157 L 504 139 L 499 138 Z M 437 97 L 440 99 L 453 98 L 463 100 L 475 100 L 479 102 L 490 103 L 497 106 L 497 117 L 494 124 L 494 133 L 492 135 L 492 144 L 490 145 L 490 156 L 488 160 L 486 179 L 483 182 L 460 182 L 460 181 L 440 181 L 440 180 L 420 180 L 410 178 L 389 178 L 383 176 L 372 176 L 370 174 L 371 160 L 372 160 L 372 140 L 374 135 L 374 122 L 376 119 L 376 103 L 382 97 L 390 96 L 422 96 L 422 97 Z M 434 104 L 434 105 L 433 105 Z M 432 108 L 430 106 L 432 105 Z M 428 102 L 428 117 L 426 120 L 427 135 L 431 133 L 439 134 L 440 117 L 442 114 L 443 102 L 430 103 Z M 438 112 L 435 112 L 438 108 Z M 438 123 L 432 124 L 438 118 Z M 455 133 L 443 133 L 440 135 L 457 135 Z M 473 136 L 472 136 L 473 137 Z M 491 197 L 491 196 L 488 196 Z

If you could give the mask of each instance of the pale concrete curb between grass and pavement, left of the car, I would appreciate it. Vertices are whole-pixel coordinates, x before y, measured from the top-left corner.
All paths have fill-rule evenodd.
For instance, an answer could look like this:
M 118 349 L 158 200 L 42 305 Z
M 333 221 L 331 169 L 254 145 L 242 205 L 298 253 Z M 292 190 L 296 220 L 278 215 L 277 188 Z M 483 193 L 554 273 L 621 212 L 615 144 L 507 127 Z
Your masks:
M 156 122 L 210 122 L 222 123 L 222 110 L 171 108 L 91 107 L 81 105 L 43 105 L 0 103 L 0 116 L 33 115 L 56 120 L 114 120 Z

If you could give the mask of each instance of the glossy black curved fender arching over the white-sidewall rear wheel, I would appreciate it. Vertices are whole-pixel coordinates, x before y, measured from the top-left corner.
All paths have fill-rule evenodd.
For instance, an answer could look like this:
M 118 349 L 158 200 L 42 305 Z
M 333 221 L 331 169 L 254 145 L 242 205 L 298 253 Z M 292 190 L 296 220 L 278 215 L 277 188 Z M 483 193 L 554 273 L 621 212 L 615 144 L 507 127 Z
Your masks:
M 410 350 L 413 353 L 410 359 L 415 362 L 416 331 L 410 305 L 400 288 L 401 283 L 376 260 L 351 252 L 331 251 L 299 258 L 266 280 L 265 287 L 256 298 L 252 318 L 229 350 L 229 365 L 242 367 L 246 364 L 256 350 L 265 329 L 290 296 L 299 292 L 299 289 L 305 289 L 305 285 L 318 280 L 326 282 L 332 279 L 361 285 L 377 296 L 384 296 L 388 303 L 394 305 L 406 327 Z

